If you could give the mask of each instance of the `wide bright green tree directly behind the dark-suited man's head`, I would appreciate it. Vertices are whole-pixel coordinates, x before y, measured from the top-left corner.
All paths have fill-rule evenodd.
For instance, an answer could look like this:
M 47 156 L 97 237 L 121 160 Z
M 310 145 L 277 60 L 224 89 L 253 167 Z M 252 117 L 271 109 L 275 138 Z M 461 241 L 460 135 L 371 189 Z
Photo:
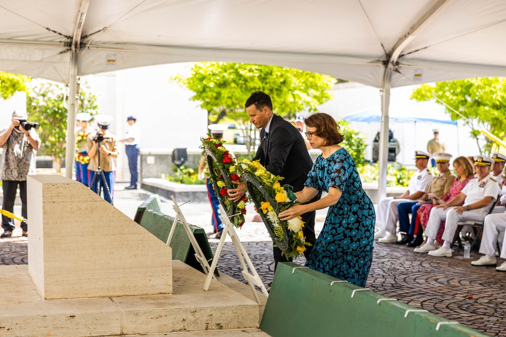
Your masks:
M 179 75 L 171 80 L 195 93 L 192 100 L 207 111 L 209 124 L 224 118 L 237 122 L 244 130 L 248 155 L 258 136 L 244 110 L 252 92 L 267 92 L 274 112 L 293 118 L 303 110 L 316 111 L 318 105 L 331 99 L 328 90 L 336 82 L 333 77 L 299 69 L 226 62 L 196 63 L 189 77 Z

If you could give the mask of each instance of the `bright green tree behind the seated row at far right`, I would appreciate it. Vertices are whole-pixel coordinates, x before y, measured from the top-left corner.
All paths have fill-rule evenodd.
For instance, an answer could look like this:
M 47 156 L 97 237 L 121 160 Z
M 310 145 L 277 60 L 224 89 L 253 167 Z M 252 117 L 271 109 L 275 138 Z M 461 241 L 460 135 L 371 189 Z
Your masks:
M 489 155 L 498 146 L 483 137 L 481 129 L 500 139 L 506 137 L 506 78 L 468 78 L 437 82 L 435 86 L 422 84 L 411 95 L 416 101 L 431 101 L 445 105 L 452 120 L 462 119 L 471 128 L 480 154 Z M 455 113 L 448 107 L 451 107 Z

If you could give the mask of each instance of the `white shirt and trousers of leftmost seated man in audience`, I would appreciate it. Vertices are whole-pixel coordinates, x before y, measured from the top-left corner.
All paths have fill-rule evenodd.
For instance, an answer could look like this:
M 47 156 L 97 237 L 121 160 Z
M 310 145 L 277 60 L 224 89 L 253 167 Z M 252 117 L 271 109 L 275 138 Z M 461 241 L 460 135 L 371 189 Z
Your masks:
M 417 191 L 427 192 L 431 185 L 433 175 L 430 170 L 423 169 L 413 173 L 409 179 L 409 195 Z M 379 231 L 386 231 L 395 235 L 397 229 L 398 210 L 397 205 L 405 202 L 412 202 L 410 199 L 394 199 L 393 197 L 382 198 L 378 202 L 378 211 L 376 213 L 376 224 Z

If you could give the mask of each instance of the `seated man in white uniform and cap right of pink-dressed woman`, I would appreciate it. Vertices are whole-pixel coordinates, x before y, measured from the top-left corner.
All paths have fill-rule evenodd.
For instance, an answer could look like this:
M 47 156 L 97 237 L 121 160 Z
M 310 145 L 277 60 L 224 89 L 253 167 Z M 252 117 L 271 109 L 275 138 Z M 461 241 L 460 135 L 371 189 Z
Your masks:
M 474 165 L 477 178 L 471 179 L 462 191 L 449 202 L 435 206 L 431 211 L 425 235 L 427 243 L 415 249 L 416 253 L 429 252 L 431 256 L 451 257 L 450 245 L 459 221 L 483 221 L 493 202 L 499 194 L 499 185 L 492 178 L 490 166 L 493 160 L 485 156 L 474 156 Z M 462 206 L 458 206 L 462 204 Z M 443 246 L 437 250 L 434 247 L 434 239 L 439 229 L 441 220 L 446 220 L 443 232 Z

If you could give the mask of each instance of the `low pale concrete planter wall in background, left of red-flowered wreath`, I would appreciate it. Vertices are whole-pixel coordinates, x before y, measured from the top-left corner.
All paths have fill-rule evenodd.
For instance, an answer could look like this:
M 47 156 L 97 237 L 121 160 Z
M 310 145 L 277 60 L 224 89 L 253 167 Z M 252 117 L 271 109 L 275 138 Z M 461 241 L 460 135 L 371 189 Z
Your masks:
M 159 178 L 142 179 L 141 187 L 164 198 L 174 196 L 177 201 L 206 202 L 207 187 L 205 185 L 186 185 Z

